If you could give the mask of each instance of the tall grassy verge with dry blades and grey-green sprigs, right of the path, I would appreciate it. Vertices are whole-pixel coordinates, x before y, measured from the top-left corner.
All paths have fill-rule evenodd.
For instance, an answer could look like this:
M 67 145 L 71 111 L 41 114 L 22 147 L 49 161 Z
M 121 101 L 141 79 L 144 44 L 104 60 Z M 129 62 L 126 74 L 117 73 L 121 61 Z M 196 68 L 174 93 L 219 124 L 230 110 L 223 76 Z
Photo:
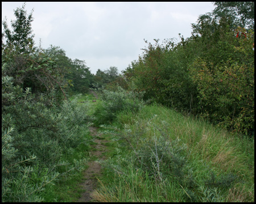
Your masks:
M 121 112 L 101 202 L 253 202 L 254 139 L 158 105 Z

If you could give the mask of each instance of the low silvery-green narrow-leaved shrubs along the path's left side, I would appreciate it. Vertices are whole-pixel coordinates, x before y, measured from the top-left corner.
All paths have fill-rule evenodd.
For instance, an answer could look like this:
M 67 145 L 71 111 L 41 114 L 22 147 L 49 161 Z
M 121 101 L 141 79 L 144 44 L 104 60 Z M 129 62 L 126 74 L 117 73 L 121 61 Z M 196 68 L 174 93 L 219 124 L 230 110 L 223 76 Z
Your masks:
M 63 155 L 85 142 L 87 108 L 76 100 L 47 108 L 44 100 L 2 76 L 2 202 L 42 201 L 46 185 L 80 168 Z

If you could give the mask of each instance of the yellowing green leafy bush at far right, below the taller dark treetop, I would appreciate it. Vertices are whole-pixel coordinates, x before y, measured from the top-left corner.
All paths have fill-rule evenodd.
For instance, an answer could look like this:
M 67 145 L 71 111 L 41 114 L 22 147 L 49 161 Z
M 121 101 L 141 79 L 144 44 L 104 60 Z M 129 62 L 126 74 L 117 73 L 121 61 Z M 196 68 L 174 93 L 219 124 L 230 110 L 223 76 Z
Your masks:
M 246 33 L 245 31 L 243 31 Z M 190 76 L 197 84 L 199 109 L 204 117 L 245 134 L 254 130 L 254 32 L 232 45 L 236 59 L 215 62 L 197 58 Z M 220 53 L 221 54 L 221 53 Z M 243 57 L 242 57 L 243 56 Z M 200 112 L 200 111 L 199 111 Z

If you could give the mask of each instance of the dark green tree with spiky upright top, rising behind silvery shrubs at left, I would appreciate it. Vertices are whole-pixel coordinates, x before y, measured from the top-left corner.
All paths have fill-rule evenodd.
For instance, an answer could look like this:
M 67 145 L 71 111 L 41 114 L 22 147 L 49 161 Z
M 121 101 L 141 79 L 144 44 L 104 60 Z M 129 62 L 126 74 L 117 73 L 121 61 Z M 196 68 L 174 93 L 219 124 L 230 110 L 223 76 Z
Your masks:
M 65 98 L 63 70 L 57 69 L 56 62 L 43 49 L 34 46 L 32 12 L 27 15 L 25 6 L 14 11 L 16 20 L 11 20 L 13 31 L 8 28 L 6 20 L 2 22 L 2 37 L 6 38 L 6 44 L 2 41 L 2 63 L 7 67 L 2 70 L 2 75 L 13 77 L 14 86 L 19 85 L 23 90 L 31 88 L 33 94 L 47 93 L 47 96 L 51 93 L 49 97 L 54 92 L 58 96 L 52 99 L 61 100 L 61 94 Z M 50 101 L 48 105 L 52 105 Z

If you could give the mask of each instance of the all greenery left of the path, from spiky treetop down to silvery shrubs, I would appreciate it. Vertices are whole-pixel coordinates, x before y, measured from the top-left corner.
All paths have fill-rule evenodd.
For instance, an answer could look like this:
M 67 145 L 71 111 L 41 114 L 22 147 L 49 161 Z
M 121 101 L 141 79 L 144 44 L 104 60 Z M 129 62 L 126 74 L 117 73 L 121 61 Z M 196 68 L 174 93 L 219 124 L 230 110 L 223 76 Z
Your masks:
M 2 202 L 42 202 L 47 189 L 81 169 L 84 158 L 67 155 L 86 146 L 91 120 L 86 104 L 67 100 L 67 69 L 57 62 L 63 53 L 34 46 L 24 6 L 15 10 L 13 32 L 3 22 Z

